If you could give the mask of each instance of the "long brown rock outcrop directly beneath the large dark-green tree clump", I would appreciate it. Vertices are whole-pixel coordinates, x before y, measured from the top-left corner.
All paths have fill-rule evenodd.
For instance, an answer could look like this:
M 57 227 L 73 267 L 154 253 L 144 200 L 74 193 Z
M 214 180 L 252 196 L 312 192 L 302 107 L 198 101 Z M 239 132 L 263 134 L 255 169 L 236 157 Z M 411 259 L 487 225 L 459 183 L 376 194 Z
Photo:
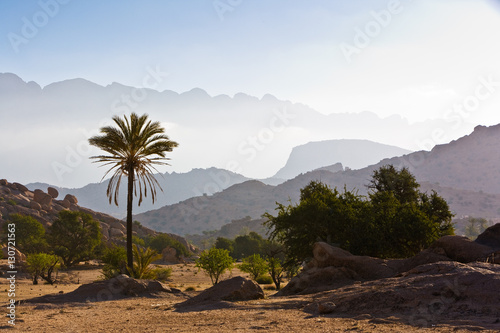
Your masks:
M 355 282 L 392 278 L 421 265 L 437 262 L 500 262 L 497 241 L 500 224 L 478 237 L 480 244 L 462 236 L 444 236 L 428 249 L 408 259 L 379 259 L 352 255 L 341 248 L 318 242 L 313 259 L 278 295 L 310 294 L 340 288 Z

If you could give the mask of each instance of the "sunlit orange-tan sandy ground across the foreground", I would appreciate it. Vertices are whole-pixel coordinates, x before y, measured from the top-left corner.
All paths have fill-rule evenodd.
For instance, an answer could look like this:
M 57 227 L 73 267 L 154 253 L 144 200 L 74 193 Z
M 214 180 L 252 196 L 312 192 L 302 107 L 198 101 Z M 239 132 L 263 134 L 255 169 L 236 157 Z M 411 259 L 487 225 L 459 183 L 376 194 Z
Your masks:
M 47 295 L 68 293 L 80 285 L 99 278 L 98 266 L 86 265 L 69 272 L 60 272 L 56 285 L 33 285 L 28 277 L 17 274 L 15 299 L 16 325 L 7 317 L 10 297 L 9 283 L 0 278 L 0 303 L 4 315 L 0 329 L 20 332 L 470 332 L 483 330 L 476 321 L 435 323 L 435 326 L 409 325 L 402 317 L 374 317 L 361 314 L 316 315 L 304 311 L 314 304 L 314 295 L 269 297 L 274 290 L 262 286 L 263 300 L 235 302 L 226 308 L 202 311 L 176 310 L 174 305 L 197 295 L 211 286 L 210 279 L 193 264 L 170 265 L 173 274 L 167 284 L 183 293 L 158 293 L 151 297 L 131 297 L 121 300 L 85 303 L 23 303 L 23 300 Z M 234 269 L 226 277 L 242 275 Z M 194 291 L 186 291 L 186 289 Z M 414 323 L 415 324 L 415 323 Z M 419 324 L 419 323 L 416 323 Z M 420 323 L 421 324 L 421 323 Z M 496 330 L 483 330 L 496 332 Z

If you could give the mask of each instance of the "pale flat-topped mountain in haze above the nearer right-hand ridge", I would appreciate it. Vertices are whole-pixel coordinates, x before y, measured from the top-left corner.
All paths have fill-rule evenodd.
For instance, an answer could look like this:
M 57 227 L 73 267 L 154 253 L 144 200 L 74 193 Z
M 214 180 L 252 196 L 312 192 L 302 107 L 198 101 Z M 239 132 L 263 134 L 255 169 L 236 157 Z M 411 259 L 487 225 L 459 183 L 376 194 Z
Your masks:
M 341 163 L 349 169 L 361 169 L 384 158 L 410 153 L 410 150 L 369 140 L 327 140 L 309 142 L 292 153 L 275 178 L 292 179 L 300 173 Z

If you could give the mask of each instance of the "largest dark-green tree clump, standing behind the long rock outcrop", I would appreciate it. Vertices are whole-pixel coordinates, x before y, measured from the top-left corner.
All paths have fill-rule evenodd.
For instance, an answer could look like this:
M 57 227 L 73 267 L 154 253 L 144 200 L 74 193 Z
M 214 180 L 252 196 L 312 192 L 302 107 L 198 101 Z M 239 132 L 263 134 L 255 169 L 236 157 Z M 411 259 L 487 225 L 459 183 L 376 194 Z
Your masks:
M 358 255 L 409 257 L 453 234 L 446 201 L 436 192 L 421 193 L 407 169 L 382 167 L 368 187 L 372 191 L 366 198 L 311 182 L 301 189 L 297 205 L 278 204 L 277 216 L 264 214 L 271 240 L 286 249 L 286 263 L 311 257 L 317 241 Z

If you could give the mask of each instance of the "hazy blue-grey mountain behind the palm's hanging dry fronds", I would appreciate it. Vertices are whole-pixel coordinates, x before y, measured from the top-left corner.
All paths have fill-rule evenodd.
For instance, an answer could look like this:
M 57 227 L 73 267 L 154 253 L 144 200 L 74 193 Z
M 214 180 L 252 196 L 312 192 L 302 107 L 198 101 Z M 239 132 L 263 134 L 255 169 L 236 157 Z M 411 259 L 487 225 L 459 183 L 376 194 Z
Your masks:
M 163 189 L 163 191 L 157 191 L 157 201 L 153 205 L 151 199 L 146 198 L 138 206 L 137 200 L 135 200 L 134 212 L 142 213 L 155 209 L 155 207 L 175 204 L 191 197 L 204 194 L 211 195 L 229 186 L 248 180 L 248 178 L 234 172 L 217 168 L 194 169 L 187 173 L 165 173 L 156 175 L 156 179 Z M 76 189 L 62 188 L 45 183 L 30 183 L 26 187 L 32 191 L 54 187 L 62 196 L 66 194 L 76 196 L 80 204 L 84 207 L 89 207 L 99 212 L 106 212 L 116 218 L 124 218 L 127 202 L 125 187 L 120 191 L 119 205 L 116 206 L 114 203 L 110 204 L 106 196 L 108 184 L 109 180 L 105 180 L 102 183 L 88 184 Z

